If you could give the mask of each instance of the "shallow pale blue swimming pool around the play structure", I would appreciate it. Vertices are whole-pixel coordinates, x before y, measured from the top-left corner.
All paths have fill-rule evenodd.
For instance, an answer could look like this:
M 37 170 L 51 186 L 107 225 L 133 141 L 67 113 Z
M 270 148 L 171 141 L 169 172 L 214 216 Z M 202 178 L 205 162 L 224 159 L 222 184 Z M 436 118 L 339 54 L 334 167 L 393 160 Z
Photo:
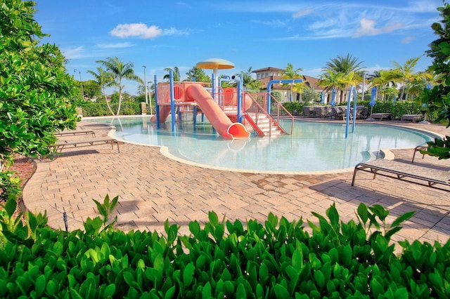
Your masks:
M 116 138 L 167 147 L 169 156 L 194 165 L 264 173 L 336 173 L 380 157 L 380 149 L 416 147 L 435 137 L 398 126 L 356 124 L 354 133 L 349 133 L 346 139 L 342 123 L 295 121 L 292 135 L 273 138 L 252 135 L 250 140 L 228 140 L 217 135 L 207 122 L 197 126 L 181 123 L 172 132 L 157 129 L 150 124 L 150 117 L 84 121 L 115 126 Z M 289 126 L 286 121 L 285 127 Z

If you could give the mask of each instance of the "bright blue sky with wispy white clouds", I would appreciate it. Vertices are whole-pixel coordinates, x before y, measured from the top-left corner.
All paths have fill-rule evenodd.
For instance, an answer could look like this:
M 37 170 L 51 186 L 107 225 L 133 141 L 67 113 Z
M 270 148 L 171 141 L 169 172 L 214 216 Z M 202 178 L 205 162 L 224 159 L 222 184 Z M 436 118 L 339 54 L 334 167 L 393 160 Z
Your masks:
M 419 56 L 415 70 L 424 70 L 439 6 L 441 0 L 37 0 L 34 18 L 51 35 L 43 41 L 60 47 L 68 72 L 82 81 L 92 79 L 87 71 L 96 71 L 96 60 L 115 56 L 133 62 L 142 78 L 145 65 L 147 81 L 155 74 L 162 81 L 166 67 L 179 67 L 186 79 L 208 58 L 236 66 L 219 75 L 290 63 L 319 77 L 326 62 L 347 53 L 369 73 Z M 137 94 L 138 84 L 124 84 Z

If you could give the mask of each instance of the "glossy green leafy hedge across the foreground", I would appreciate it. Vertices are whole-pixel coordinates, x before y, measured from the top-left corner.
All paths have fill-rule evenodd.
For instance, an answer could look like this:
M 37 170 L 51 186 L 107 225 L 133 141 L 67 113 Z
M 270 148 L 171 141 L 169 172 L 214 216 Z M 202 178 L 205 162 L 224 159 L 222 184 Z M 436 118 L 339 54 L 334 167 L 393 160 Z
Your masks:
M 264 223 L 209 213 L 190 235 L 165 222 L 165 235 L 122 232 L 108 215 L 117 197 L 96 202 L 103 216 L 84 231 L 51 230 L 45 215 L 26 225 L 1 220 L 1 298 L 450 298 L 450 241 L 392 244 L 413 212 L 386 225 L 383 207 L 360 204 L 359 221 L 335 206 L 319 225 L 270 214 Z M 108 224 L 109 223 L 109 224 Z M 395 246 L 401 246 L 399 255 Z

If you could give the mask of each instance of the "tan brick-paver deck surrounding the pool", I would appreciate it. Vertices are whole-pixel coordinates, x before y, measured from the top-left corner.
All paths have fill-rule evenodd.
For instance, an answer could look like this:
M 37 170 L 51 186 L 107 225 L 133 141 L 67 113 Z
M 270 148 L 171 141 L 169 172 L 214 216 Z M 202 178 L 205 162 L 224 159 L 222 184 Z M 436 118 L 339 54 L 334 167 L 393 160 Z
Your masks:
M 317 119 L 304 119 L 318 121 Z M 323 121 L 323 119 L 322 119 Z M 339 122 L 339 121 L 338 121 Z M 342 121 L 340 121 L 342 122 Z M 445 126 L 400 121 L 361 121 L 394 124 L 450 135 Z M 86 121 L 80 129 L 108 135 L 110 127 Z M 76 138 L 80 138 L 77 136 Z M 84 137 L 83 138 L 89 138 Z M 411 163 L 412 149 L 392 150 L 398 161 Z M 450 170 L 450 161 L 416 157 L 414 164 Z M 114 215 L 122 230 L 164 232 L 164 223 L 181 226 L 207 221 L 208 212 L 219 219 L 256 219 L 264 222 L 269 213 L 288 220 L 303 218 L 315 222 L 311 212 L 326 214 L 335 204 L 341 220 L 356 219 L 357 206 L 380 204 L 390 211 L 388 222 L 408 211 L 416 215 L 394 235 L 394 241 L 408 239 L 441 243 L 450 237 L 450 192 L 360 173 L 351 186 L 352 171 L 317 175 L 240 173 L 201 168 L 174 161 L 159 147 L 124 143 L 112 150 L 108 145 L 64 150 L 57 159 L 36 161 L 37 170 L 23 192 L 25 207 L 34 213 L 47 212 L 49 225 L 64 230 L 63 212 L 69 230 L 82 228 L 83 220 L 98 214 L 92 199 L 103 202 L 106 194 L 119 196 Z

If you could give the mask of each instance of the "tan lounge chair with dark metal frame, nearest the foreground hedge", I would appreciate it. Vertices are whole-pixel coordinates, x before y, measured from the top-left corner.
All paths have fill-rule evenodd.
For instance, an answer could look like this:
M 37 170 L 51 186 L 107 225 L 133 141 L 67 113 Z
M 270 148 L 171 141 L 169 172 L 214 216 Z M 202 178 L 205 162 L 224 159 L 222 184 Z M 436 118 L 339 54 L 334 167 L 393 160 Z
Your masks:
M 352 186 L 356 179 L 358 171 L 373 173 L 373 179 L 376 175 L 383 175 L 387 178 L 404 180 L 418 185 L 425 185 L 431 188 L 450 192 L 450 172 L 440 171 L 433 168 L 411 165 L 398 161 L 378 159 L 359 163 L 354 167 Z M 425 184 L 426 182 L 426 184 Z

